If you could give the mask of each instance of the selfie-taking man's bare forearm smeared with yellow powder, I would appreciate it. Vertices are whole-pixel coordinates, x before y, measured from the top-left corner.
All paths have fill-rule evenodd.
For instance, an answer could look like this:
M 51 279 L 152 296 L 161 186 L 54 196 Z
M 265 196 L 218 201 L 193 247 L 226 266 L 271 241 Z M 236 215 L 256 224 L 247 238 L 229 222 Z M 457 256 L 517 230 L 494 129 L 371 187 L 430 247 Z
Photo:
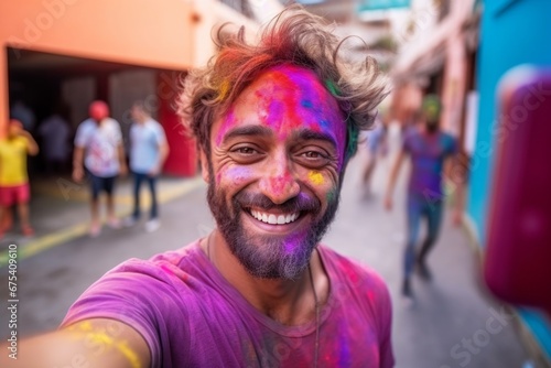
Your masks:
M 19 342 L 17 360 L 2 344 L 0 367 L 145 368 L 151 356 L 132 327 L 105 318 L 86 320 L 63 329 Z

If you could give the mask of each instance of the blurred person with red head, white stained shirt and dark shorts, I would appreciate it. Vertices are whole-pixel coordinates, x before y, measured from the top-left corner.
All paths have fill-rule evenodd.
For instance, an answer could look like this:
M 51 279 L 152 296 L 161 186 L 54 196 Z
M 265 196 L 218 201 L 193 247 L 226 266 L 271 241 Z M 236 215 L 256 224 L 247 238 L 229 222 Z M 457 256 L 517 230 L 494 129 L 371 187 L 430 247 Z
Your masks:
M 128 172 L 122 147 L 122 133 L 117 120 L 109 118 L 109 107 L 105 101 L 96 100 L 89 106 L 89 118 L 83 121 L 76 131 L 75 152 L 73 155 L 73 180 L 83 182 L 88 174 L 91 190 L 90 236 L 101 232 L 99 195 L 107 196 L 107 224 L 119 228 L 115 214 L 114 188 L 117 176 Z M 86 172 L 85 172 L 86 169 Z

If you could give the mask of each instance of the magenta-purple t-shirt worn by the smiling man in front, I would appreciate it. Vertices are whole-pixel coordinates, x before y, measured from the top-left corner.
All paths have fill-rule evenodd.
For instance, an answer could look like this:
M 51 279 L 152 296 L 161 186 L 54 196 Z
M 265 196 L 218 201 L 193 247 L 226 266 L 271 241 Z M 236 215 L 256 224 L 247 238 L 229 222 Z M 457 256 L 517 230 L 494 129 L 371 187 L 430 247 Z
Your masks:
M 391 304 L 383 281 L 318 247 L 329 278 L 320 313 L 318 367 L 392 367 Z M 256 310 L 198 241 L 132 259 L 94 283 L 62 326 L 114 318 L 147 340 L 152 367 L 313 367 L 315 322 L 284 326 Z

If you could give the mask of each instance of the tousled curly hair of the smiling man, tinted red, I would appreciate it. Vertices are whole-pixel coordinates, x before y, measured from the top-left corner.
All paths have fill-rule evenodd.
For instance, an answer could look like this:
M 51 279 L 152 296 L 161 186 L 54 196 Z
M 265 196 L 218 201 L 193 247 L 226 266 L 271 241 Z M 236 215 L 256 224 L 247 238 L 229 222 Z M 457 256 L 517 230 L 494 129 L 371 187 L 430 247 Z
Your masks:
M 209 132 L 241 91 L 266 69 L 281 64 L 313 71 L 338 101 L 347 117 L 346 160 L 357 150 L 360 130 L 371 127 L 376 107 L 389 89 L 376 61 L 367 56 L 352 63 L 343 56 L 339 40 L 323 18 L 291 6 L 273 18 L 256 44 L 245 40 L 245 29 L 228 33 L 223 25 L 215 43 L 219 51 L 207 66 L 192 71 L 183 82 L 177 112 L 183 125 L 196 137 L 201 149 L 210 154 Z

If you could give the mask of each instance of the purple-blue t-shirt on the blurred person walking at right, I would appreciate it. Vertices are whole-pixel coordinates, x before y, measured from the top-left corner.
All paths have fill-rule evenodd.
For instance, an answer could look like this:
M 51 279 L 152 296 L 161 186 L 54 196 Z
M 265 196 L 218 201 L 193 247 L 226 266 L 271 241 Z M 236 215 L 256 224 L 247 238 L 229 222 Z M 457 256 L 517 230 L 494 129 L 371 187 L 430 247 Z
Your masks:
M 411 176 L 408 193 L 441 198 L 444 160 L 457 153 L 455 138 L 444 132 L 424 134 L 417 129 L 407 132 L 403 150 L 411 156 Z

